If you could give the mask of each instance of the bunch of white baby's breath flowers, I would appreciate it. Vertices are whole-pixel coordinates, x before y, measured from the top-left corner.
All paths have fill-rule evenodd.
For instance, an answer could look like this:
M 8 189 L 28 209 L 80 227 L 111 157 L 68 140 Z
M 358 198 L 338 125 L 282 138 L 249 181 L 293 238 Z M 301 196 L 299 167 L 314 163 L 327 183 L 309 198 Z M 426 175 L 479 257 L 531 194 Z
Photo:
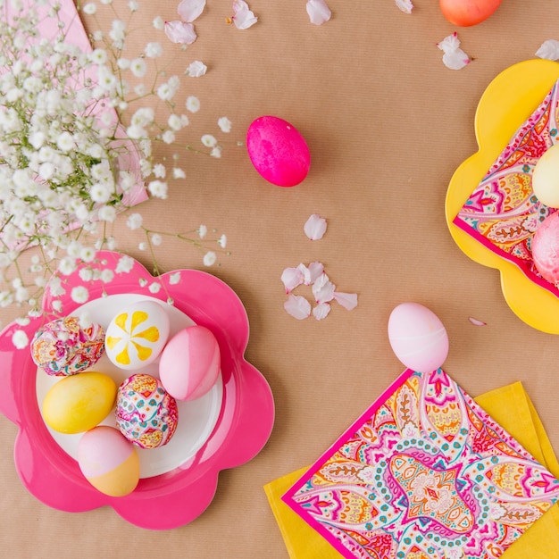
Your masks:
M 129 18 L 140 8 L 135 1 L 126 6 Z M 101 7 L 113 9 L 112 0 L 78 3 L 97 24 Z M 39 313 L 51 276 L 48 288 L 55 295 L 64 276 L 93 262 L 98 250 L 118 251 L 110 230 L 119 213 L 149 196 L 166 198 L 171 182 L 186 178 L 179 154 L 157 161 L 154 144 L 221 156 L 213 134 L 197 140 L 199 149 L 180 138 L 187 113 L 201 104 L 189 96 L 179 107 L 179 77 L 158 69 L 161 18 L 136 52 L 127 45 L 129 21 L 116 12 L 111 29 L 93 32 L 91 48 L 72 43 L 68 29 L 80 22 L 64 21 L 63 12 L 56 0 L 0 0 L 0 307 L 19 305 L 30 315 Z M 50 35 L 41 33 L 46 21 L 54 24 Z M 191 69 L 204 71 L 202 63 Z M 147 76 L 149 86 L 142 82 Z M 152 99 L 168 110 L 163 123 L 156 121 L 161 106 L 156 112 Z M 227 117 L 217 125 L 229 132 Z M 204 238 L 202 228 L 195 235 L 154 231 L 136 212 L 128 225 L 143 234 L 155 271 L 154 247 L 165 236 L 201 250 L 205 265 L 216 262 L 216 249 L 224 252 L 225 236 Z M 34 251 L 24 267 L 21 256 L 29 248 Z M 119 271 L 126 270 L 127 258 Z M 110 281 L 105 275 L 101 280 Z M 87 289 L 75 288 L 71 296 L 84 303 Z

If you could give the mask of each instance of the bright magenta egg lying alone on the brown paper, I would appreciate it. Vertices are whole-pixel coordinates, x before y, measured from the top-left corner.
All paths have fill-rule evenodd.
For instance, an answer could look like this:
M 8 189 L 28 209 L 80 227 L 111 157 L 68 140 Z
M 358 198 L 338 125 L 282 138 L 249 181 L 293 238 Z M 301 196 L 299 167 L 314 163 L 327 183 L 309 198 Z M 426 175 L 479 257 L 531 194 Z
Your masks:
M 246 149 L 254 169 L 279 187 L 295 187 L 311 166 L 305 139 L 292 124 L 276 116 L 261 116 L 251 123 Z

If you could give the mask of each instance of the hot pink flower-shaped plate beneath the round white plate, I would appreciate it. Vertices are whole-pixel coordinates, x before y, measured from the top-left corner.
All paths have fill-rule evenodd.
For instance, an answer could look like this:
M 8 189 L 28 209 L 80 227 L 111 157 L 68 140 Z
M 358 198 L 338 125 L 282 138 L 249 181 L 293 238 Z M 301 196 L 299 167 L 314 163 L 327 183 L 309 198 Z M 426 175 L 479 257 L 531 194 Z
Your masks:
M 84 282 L 75 271 L 64 279 L 63 296 L 46 293 L 45 316 L 26 325 L 13 322 L 0 333 L 0 383 L 6 391 L 0 412 L 19 428 L 14 446 L 16 468 L 23 485 L 38 500 L 68 512 L 109 505 L 141 528 L 168 530 L 204 512 L 215 494 L 219 471 L 246 463 L 260 452 L 273 426 L 273 398 L 263 375 L 244 358 L 248 342 L 246 311 L 229 286 L 196 270 L 173 271 L 154 278 L 136 261 L 130 271 L 117 272 L 119 258 L 120 254 L 108 251 L 97 254 L 99 263 L 95 266 L 115 272 L 110 283 Z M 16 330 L 24 330 L 31 339 L 44 321 L 52 320 L 55 299 L 63 304 L 57 315 L 78 309 L 80 305 L 71 299 L 71 289 L 78 286 L 88 288 L 89 300 L 119 294 L 163 301 L 171 298 L 179 311 L 212 330 L 220 345 L 222 402 L 211 435 L 187 463 L 141 479 L 129 496 L 111 497 L 98 492 L 85 480 L 76 460 L 56 443 L 39 410 L 37 366 L 29 347 L 13 346 Z

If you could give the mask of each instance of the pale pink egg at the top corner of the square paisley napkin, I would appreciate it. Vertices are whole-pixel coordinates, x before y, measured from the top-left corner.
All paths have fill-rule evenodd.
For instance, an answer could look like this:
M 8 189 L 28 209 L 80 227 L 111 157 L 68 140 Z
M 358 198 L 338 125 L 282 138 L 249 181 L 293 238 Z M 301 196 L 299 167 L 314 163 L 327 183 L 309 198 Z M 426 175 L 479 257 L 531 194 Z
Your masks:
M 396 357 L 413 371 L 435 371 L 448 355 L 445 326 L 418 303 L 402 303 L 390 313 L 388 339 Z

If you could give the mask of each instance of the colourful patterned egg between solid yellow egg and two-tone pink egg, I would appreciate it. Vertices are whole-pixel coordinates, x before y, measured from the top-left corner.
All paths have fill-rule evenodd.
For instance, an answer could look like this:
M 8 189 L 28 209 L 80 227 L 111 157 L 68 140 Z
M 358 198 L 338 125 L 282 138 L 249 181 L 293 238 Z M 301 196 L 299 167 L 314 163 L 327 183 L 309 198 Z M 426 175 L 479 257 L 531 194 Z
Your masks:
M 116 422 L 124 437 L 141 448 L 166 445 L 177 429 L 177 401 L 161 380 L 136 373 L 122 382 L 116 398 Z

